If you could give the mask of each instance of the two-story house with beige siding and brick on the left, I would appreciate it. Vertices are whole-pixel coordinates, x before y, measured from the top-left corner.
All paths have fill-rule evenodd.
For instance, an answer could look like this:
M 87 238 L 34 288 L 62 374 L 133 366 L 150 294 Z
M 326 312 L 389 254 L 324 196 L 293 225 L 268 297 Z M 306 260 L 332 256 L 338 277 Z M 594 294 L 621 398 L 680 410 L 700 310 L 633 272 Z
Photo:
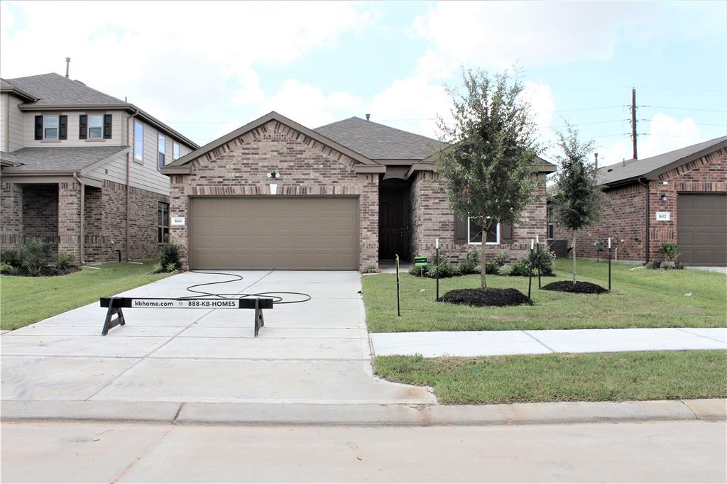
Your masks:
M 198 148 L 136 106 L 55 73 L 0 81 L 0 246 L 77 261 L 156 257 L 169 230 L 159 167 Z

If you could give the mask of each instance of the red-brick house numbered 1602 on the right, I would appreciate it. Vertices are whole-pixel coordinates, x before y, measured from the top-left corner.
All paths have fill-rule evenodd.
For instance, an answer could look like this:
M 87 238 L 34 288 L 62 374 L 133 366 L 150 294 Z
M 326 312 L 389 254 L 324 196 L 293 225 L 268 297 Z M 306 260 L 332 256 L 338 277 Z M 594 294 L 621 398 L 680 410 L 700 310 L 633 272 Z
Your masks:
M 727 265 L 727 137 L 603 166 L 598 177 L 606 204 L 601 222 L 579 232 L 579 257 L 598 257 L 594 242 L 611 237 L 624 261 L 659 259 L 675 242 L 686 265 Z M 557 225 L 553 235 L 571 238 Z

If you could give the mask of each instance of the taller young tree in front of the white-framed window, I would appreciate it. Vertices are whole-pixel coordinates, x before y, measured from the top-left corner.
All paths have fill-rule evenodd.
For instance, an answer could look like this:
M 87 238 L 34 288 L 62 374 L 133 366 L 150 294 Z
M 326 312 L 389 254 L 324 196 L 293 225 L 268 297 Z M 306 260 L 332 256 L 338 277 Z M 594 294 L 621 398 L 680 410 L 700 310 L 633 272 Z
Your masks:
M 499 222 L 512 224 L 532 200 L 537 144 L 523 84 L 507 71 L 490 76 L 463 70 L 465 90 L 447 89 L 453 121 L 439 119 L 442 141 L 436 170 L 449 207 L 459 217 L 477 217 L 483 228 L 481 286 L 487 289 L 486 238 Z

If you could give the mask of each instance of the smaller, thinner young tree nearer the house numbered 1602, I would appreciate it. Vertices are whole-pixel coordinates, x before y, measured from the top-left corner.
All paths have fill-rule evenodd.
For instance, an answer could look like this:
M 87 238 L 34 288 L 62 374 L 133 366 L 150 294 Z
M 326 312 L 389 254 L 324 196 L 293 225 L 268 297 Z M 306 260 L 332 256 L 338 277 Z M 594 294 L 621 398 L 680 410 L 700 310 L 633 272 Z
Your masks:
M 598 186 L 595 164 L 589 161 L 593 140 L 582 142 L 578 131 L 566 123 L 566 133 L 558 133 L 558 146 L 563 153 L 556 157 L 558 172 L 553 206 L 555 218 L 573 233 L 573 283 L 576 283 L 576 235 L 578 230 L 598 222 L 603 203 L 603 192 Z

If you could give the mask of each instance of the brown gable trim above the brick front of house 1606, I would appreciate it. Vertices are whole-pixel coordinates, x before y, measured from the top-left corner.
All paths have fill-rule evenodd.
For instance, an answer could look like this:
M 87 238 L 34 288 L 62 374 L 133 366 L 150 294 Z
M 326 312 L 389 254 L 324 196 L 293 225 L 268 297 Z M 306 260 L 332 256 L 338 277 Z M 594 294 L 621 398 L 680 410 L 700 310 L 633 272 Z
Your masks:
M 249 142 L 251 138 L 265 134 L 267 130 L 266 125 L 271 121 L 278 124 L 276 129 L 281 131 L 287 129 L 288 134 L 297 138 L 298 141 L 305 145 L 313 146 L 313 148 L 318 148 L 321 151 L 327 152 L 326 154 L 333 156 L 334 158 L 338 158 L 340 161 L 342 161 L 342 158 L 349 158 L 353 165 L 369 166 L 371 169 L 380 168 L 381 171 L 385 168 L 384 166 L 377 164 L 375 161 L 366 158 L 366 156 L 362 156 L 361 153 L 356 153 L 356 151 L 350 150 L 334 140 L 329 140 L 312 129 L 308 129 L 305 126 L 302 126 L 302 124 L 296 123 L 292 119 L 286 118 L 275 111 L 271 111 L 265 116 L 257 118 L 255 121 L 241 126 L 235 131 L 225 134 L 224 136 L 217 138 L 217 140 L 209 142 L 201 148 L 182 156 L 182 158 L 166 165 L 163 169 L 161 169 L 161 172 L 173 174 L 177 172 L 175 169 L 191 166 L 193 161 L 200 158 L 203 162 L 212 161 L 222 154 L 233 150 L 238 145 Z M 337 156 L 334 152 L 338 153 Z

